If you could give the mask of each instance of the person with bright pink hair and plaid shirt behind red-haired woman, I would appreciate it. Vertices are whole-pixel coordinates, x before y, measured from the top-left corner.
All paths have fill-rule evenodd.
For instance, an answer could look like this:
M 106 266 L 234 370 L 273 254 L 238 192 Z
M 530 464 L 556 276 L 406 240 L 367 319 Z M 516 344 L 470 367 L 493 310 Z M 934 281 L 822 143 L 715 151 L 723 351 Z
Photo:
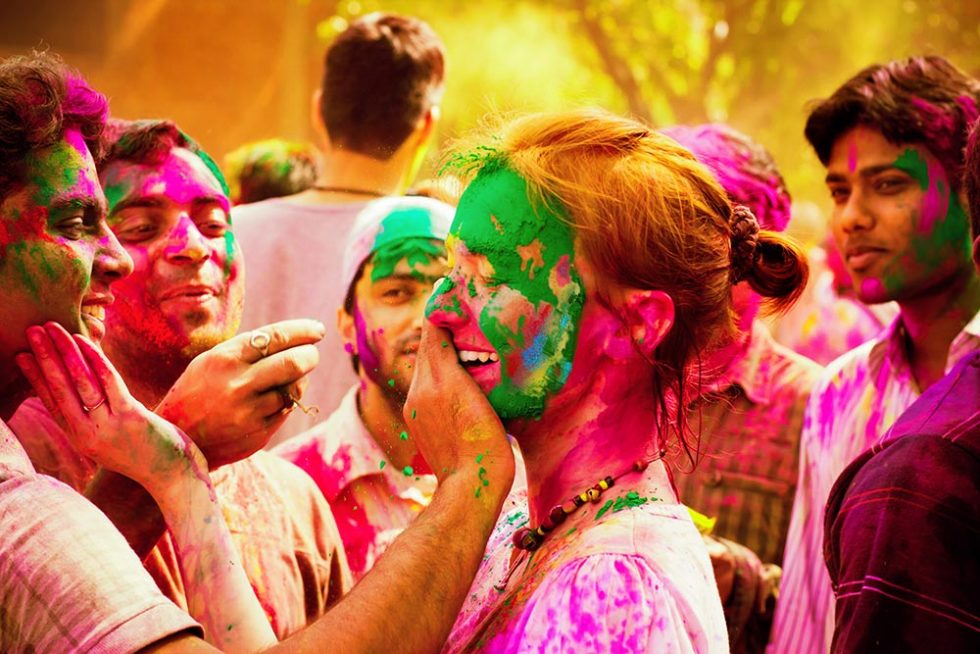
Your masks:
M 707 166 L 732 202 L 762 229 L 781 232 L 790 195 L 772 155 L 727 125 L 671 127 L 668 136 Z M 821 367 L 776 343 L 757 318 L 761 297 L 733 289 L 744 337 L 705 360 L 698 465 L 674 479 L 681 500 L 716 520 L 706 536 L 732 652 L 765 649 L 779 591 L 780 564 L 796 489 L 803 411 Z

